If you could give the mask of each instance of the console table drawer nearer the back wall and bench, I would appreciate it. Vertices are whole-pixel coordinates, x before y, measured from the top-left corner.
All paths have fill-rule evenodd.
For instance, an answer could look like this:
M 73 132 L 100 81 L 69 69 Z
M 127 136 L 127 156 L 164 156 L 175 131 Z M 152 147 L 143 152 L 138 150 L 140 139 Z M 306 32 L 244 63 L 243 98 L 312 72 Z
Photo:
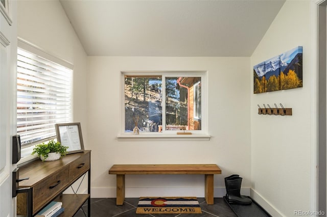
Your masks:
M 69 181 L 73 181 L 90 169 L 90 152 L 69 165 Z

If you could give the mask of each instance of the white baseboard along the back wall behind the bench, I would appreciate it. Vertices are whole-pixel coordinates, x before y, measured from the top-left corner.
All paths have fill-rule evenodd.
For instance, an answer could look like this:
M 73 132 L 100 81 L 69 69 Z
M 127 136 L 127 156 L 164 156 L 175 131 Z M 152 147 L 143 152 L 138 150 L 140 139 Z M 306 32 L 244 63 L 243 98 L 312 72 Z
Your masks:
M 241 194 L 250 196 L 250 188 L 241 189 Z M 214 197 L 222 198 L 226 195 L 225 187 L 215 187 Z M 204 187 L 126 187 L 126 198 L 138 197 L 204 197 Z M 91 187 L 91 198 L 115 198 L 115 187 Z

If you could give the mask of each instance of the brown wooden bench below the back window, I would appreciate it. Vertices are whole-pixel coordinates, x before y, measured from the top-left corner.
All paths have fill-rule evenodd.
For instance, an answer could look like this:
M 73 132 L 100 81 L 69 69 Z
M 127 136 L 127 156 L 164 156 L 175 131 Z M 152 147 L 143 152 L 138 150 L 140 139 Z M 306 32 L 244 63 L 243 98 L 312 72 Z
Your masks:
M 173 165 L 113 165 L 109 174 L 116 174 L 116 204 L 125 200 L 125 175 L 129 174 L 204 174 L 204 195 L 207 204 L 214 204 L 214 174 L 221 174 L 215 164 L 173 164 Z

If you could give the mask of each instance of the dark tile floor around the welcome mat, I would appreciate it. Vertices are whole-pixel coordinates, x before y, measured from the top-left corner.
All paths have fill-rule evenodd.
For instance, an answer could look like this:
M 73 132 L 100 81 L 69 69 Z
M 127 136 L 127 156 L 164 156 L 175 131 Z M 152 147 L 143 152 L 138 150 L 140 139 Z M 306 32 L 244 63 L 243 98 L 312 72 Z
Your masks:
M 115 198 L 91 198 L 91 217 L 235 217 L 237 216 L 226 204 L 223 198 L 215 198 L 214 205 L 207 205 L 204 198 L 198 198 L 202 214 L 136 214 L 138 198 L 126 198 L 122 206 L 116 205 Z M 74 215 L 74 217 L 87 216 L 87 204 Z M 84 214 L 84 212 L 86 214 Z

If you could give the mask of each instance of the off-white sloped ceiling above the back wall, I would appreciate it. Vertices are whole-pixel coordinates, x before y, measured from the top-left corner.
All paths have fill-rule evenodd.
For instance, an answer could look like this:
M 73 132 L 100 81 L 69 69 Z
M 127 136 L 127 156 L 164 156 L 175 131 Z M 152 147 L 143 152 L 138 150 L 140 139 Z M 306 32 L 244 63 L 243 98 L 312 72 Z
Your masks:
M 60 0 L 88 56 L 249 57 L 284 0 Z

